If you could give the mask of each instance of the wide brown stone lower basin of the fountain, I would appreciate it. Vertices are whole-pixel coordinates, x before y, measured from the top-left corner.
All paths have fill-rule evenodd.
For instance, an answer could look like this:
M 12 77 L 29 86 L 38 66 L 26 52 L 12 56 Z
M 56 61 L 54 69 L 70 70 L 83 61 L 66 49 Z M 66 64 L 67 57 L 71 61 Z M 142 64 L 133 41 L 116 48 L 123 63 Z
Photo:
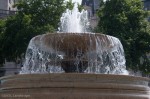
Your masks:
M 143 77 L 60 73 L 0 80 L 0 99 L 150 99 L 150 79 Z

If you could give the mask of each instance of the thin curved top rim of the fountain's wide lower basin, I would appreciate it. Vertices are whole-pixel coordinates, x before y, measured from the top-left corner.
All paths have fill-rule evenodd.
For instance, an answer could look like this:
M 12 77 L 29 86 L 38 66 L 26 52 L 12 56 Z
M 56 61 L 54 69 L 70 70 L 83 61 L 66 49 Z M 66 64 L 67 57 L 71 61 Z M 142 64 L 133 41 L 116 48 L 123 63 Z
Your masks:
M 47 73 L 47 74 L 20 74 L 20 75 L 11 75 L 11 76 L 4 76 L 4 77 L 0 77 L 0 80 L 7 80 L 7 79 L 11 79 L 14 77 L 19 77 L 19 78 L 27 78 L 30 76 L 31 78 L 38 78 L 40 76 L 44 76 L 48 77 L 48 76 L 61 76 L 61 75 L 66 75 L 66 76 L 84 76 L 84 77 L 90 77 L 90 76 L 95 76 L 95 77 L 103 77 L 104 79 L 106 79 L 105 77 L 111 78 L 111 79 L 116 79 L 116 78 L 124 78 L 124 79 L 131 79 L 131 80 L 137 80 L 137 81 L 150 81 L 150 78 L 147 77 L 141 77 L 141 76 L 131 76 L 131 75 L 116 75 L 116 74 L 92 74 L 92 73 Z M 83 78 L 84 78 L 83 77 Z

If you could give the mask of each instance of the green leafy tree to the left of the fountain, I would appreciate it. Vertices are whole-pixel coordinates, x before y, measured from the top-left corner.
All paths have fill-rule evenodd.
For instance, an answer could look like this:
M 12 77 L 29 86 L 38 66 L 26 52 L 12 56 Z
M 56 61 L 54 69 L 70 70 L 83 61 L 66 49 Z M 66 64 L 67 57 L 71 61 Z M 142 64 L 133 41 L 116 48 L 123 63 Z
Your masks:
M 0 56 L 15 61 L 25 53 L 32 37 L 57 30 L 66 6 L 64 0 L 19 0 L 14 6 L 18 11 L 5 22 Z

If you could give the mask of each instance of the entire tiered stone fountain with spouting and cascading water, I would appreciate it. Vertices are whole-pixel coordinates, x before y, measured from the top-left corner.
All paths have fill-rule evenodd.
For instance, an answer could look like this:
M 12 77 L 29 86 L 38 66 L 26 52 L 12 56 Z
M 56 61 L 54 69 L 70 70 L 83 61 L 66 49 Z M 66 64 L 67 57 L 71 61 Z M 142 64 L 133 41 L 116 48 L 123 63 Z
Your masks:
M 59 33 L 32 38 L 20 75 L 0 78 L 0 97 L 150 99 L 149 79 L 128 75 L 119 39 L 89 33 L 86 16 L 75 5 Z

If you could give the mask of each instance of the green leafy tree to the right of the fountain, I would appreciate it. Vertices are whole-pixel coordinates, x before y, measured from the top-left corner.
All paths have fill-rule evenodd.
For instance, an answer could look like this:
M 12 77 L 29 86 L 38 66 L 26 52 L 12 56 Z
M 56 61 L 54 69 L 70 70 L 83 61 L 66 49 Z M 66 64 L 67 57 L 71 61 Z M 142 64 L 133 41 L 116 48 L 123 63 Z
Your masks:
M 101 2 L 96 28 L 118 37 L 125 49 L 127 67 L 150 73 L 149 66 L 140 64 L 140 57 L 150 52 L 149 12 L 143 10 L 141 0 L 107 0 Z

